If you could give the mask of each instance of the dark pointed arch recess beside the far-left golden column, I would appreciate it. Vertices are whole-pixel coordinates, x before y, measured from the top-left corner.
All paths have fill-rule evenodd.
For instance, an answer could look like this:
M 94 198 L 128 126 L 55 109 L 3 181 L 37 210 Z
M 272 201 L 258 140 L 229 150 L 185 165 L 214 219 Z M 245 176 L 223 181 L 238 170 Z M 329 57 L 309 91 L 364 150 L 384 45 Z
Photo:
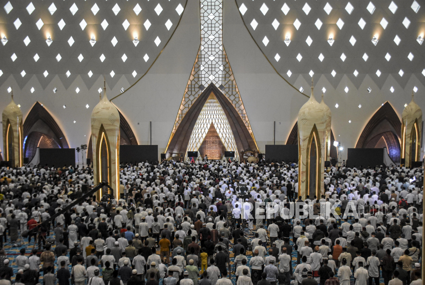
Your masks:
M 31 108 L 24 121 L 24 157 L 29 161 L 37 147 L 69 148 L 68 140 L 53 116 L 38 101 Z

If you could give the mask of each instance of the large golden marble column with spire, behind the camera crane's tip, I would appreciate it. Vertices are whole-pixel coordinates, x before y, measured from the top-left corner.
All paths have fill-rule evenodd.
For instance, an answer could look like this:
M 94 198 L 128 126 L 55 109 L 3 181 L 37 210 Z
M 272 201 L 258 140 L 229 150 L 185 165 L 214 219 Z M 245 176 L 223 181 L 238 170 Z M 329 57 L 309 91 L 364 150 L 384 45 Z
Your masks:
M 103 97 L 92 112 L 92 148 L 94 184 L 102 180 L 109 183 L 119 199 L 119 112 L 108 100 L 103 82 Z M 105 189 L 97 196 L 101 198 Z

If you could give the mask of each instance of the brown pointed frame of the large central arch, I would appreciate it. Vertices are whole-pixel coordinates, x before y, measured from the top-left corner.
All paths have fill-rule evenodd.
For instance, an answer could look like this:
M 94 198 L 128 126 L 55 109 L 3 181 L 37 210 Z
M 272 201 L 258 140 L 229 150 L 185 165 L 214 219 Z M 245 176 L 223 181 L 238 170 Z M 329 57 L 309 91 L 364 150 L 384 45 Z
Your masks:
M 182 118 L 174 135 L 169 141 L 168 147 L 165 151 L 166 157 L 171 156 L 172 153 L 181 153 L 184 156 L 189 144 L 190 136 L 194 131 L 196 121 L 211 93 L 215 95 L 218 103 L 224 111 L 224 114 L 229 122 L 230 129 L 233 133 L 233 137 L 235 137 L 238 151 L 241 152 L 245 149 L 258 151 L 256 142 L 251 136 L 238 111 L 235 109 L 235 107 L 233 107 L 229 99 L 227 99 L 227 97 L 214 84 L 211 83 L 194 101 L 192 106 L 190 106 Z

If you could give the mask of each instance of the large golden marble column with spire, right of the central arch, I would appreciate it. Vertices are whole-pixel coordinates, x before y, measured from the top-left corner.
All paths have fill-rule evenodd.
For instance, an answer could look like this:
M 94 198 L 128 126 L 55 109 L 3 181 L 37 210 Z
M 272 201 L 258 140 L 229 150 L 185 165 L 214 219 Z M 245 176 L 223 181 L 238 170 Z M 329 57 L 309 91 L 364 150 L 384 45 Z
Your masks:
M 309 195 L 320 197 L 324 194 L 325 156 L 329 156 L 326 141 L 330 143 L 331 112 L 323 102 L 318 103 L 311 96 L 298 113 L 298 195 L 303 199 Z

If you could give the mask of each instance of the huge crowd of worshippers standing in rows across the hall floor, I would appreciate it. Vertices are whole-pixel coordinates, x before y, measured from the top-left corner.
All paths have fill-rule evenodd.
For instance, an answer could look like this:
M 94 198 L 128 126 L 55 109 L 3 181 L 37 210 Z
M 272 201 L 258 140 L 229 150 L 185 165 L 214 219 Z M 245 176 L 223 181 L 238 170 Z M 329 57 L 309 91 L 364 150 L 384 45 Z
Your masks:
M 237 285 L 422 283 L 422 169 L 330 167 L 325 194 L 310 199 L 294 163 L 121 165 L 120 197 L 81 200 L 49 223 L 94 187 L 90 168 L 0 176 L 0 246 L 36 229 L 17 269 L 0 251 L 0 285 L 230 285 L 232 274 Z M 285 219 L 300 201 L 356 215 Z

